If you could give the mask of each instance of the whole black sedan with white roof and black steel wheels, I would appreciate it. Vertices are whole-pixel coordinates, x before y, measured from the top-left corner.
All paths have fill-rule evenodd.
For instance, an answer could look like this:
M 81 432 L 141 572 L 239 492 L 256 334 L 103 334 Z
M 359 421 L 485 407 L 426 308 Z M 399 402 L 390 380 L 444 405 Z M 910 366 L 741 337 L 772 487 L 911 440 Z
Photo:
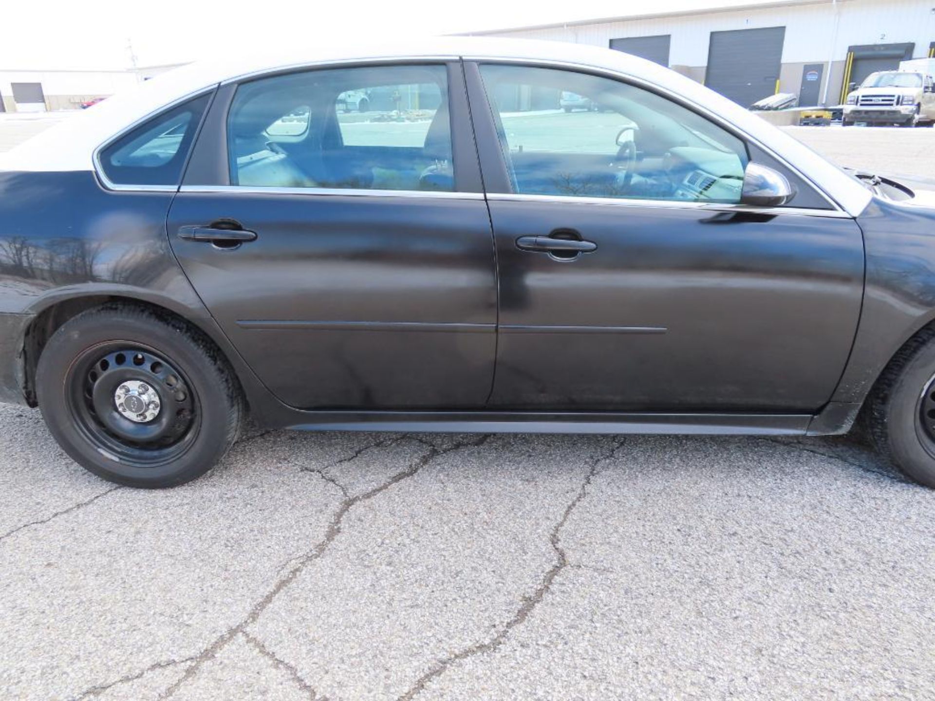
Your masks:
M 137 487 L 203 474 L 248 408 L 760 436 L 863 411 L 935 486 L 933 235 L 911 189 L 620 51 L 193 64 L 0 160 L 0 400 Z

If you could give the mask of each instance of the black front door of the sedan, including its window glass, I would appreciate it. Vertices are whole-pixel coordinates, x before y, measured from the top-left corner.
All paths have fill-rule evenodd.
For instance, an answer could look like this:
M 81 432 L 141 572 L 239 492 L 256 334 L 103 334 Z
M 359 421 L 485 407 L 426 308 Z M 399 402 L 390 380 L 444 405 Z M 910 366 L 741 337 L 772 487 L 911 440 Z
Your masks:
M 541 66 L 467 71 L 500 276 L 492 407 L 828 401 L 860 311 L 856 222 L 788 171 L 791 207 L 738 206 L 749 160 L 783 166 L 669 96 Z M 562 92 L 599 111 L 564 112 Z

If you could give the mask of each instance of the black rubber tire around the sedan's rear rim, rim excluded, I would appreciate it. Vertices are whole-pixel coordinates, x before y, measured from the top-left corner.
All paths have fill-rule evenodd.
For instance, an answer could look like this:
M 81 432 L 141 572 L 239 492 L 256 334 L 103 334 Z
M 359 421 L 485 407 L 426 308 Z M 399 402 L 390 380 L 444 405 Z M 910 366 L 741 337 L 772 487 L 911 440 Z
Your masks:
M 76 425 L 68 408 L 69 371 L 82 352 L 114 341 L 158 350 L 188 379 L 200 422 L 192 445 L 177 460 L 153 467 L 127 465 L 99 451 Z M 181 484 L 207 472 L 223 456 L 232 442 L 228 385 L 214 359 L 190 336 L 146 313 L 79 315 L 50 338 L 36 368 L 39 408 L 65 452 L 99 477 L 137 487 Z

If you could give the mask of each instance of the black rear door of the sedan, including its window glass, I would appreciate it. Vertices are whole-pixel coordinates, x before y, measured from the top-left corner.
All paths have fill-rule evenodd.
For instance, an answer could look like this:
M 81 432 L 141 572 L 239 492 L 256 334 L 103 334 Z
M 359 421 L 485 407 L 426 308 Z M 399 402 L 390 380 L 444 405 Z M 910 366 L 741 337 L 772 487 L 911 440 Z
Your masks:
M 344 93 L 362 91 L 385 99 L 347 111 Z M 484 404 L 496 269 L 466 113 L 457 64 L 328 67 L 219 91 L 168 236 L 286 404 Z

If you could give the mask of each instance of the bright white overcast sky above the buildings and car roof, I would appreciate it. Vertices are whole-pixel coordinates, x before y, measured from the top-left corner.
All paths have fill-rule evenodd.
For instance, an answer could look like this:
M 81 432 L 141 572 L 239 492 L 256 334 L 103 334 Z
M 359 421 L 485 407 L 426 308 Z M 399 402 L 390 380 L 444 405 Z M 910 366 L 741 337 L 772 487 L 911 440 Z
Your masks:
M 775 0 L 772 0 L 773 2 Z M 770 0 L 0 0 L 0 70 L 175 64 L 251 53 Z

